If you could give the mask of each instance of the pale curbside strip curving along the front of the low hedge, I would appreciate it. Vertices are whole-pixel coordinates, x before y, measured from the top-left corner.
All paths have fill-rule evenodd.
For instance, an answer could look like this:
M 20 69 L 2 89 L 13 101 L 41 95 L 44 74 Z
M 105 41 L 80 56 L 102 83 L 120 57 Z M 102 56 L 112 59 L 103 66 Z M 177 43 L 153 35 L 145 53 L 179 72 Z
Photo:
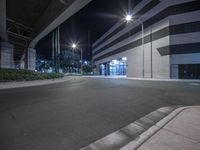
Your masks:
M 47 85 L 54 83 L 61 83 L 69 80 L 76 80 L 78 77 L 73 76 L 64 76 L 63 78 L 49 79 L 49 80 L 34 80 L 34 81 L 16 81 L 16 82 L 0 82 L 1 89 L 11 89 L 11 88 L 20 88 L 20 87 L 30 87 L 30 86 L 39 86 Z

